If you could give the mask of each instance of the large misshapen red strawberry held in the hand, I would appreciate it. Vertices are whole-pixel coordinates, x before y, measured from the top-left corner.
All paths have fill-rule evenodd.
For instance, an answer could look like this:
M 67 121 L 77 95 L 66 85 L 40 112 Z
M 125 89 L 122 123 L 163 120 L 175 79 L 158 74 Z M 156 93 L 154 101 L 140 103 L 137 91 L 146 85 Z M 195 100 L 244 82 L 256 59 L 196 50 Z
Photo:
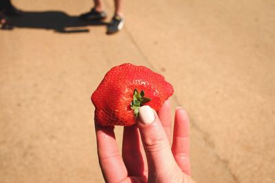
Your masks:
M 173 91 L 162 75 L 145 66 L 115 66 L 91 95 L 95 121 L 99 125 L 133 125 L 140 106 L 146 103 L 159 110 Z

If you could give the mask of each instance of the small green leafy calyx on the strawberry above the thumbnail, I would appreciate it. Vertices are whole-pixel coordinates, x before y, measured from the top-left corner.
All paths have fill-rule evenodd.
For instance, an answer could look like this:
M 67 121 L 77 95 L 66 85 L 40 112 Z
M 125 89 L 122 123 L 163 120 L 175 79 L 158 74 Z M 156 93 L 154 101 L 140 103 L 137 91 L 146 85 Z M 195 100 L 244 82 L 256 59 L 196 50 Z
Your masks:
M 148 101 L 151 101 L 151 99 L 148 97 L 144 97 L 144 90 L 142 90 L 140 93 L 137 91 L 137 89 L 133 91 L 133 101 L 131 102 L 131 109 L 133 109 L 133 114 L 135 114 L 135 118 L 137 118 L 138 116 L 140 106 L 143 106 L 143 104 L 147 103 Z

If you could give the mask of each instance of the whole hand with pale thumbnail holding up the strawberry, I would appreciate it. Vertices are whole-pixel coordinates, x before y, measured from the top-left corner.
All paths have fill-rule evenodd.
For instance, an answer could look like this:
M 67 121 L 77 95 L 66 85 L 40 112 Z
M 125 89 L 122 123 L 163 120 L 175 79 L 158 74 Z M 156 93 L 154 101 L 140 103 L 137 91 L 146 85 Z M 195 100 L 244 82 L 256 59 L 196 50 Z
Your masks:
M 105 182 L 194 182 L 190 178 L 188 114 L 182 108 L 176 109 L 170 149 L 170 111 L 169 101 L 158 114 L 142 106 L 137 124 L 124 127 L 122 156 L 113 127 L 96 125 L 98 158 Z

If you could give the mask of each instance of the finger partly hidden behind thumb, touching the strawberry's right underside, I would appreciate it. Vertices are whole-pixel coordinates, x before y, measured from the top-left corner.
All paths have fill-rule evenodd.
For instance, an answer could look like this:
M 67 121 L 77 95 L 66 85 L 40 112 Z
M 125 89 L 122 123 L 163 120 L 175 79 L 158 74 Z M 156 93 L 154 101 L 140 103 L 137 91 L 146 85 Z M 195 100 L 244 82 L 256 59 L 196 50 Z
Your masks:
M 159 116 L 159 120 L 162 122 L 162 126 L 164 127 L 164 131 L 170 143 L 172 113 L 169 99 L 164 102 L 162 108 L 157 112 L 157 115 Z

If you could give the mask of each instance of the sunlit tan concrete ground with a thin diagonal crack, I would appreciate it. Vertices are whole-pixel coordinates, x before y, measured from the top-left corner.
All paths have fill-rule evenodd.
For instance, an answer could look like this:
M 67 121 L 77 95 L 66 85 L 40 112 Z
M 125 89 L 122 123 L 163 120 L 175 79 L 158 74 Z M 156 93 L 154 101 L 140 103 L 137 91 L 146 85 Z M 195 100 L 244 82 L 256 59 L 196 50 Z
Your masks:
M 91 0 L 13 2 L 26 16 L 0 31 L 1 183 L 104 182 L 89 97 L 123 62 L 173 84 L 197 182 L 274 182 L 274 1 L 124 1 L 113 36 L 77 21 Z

